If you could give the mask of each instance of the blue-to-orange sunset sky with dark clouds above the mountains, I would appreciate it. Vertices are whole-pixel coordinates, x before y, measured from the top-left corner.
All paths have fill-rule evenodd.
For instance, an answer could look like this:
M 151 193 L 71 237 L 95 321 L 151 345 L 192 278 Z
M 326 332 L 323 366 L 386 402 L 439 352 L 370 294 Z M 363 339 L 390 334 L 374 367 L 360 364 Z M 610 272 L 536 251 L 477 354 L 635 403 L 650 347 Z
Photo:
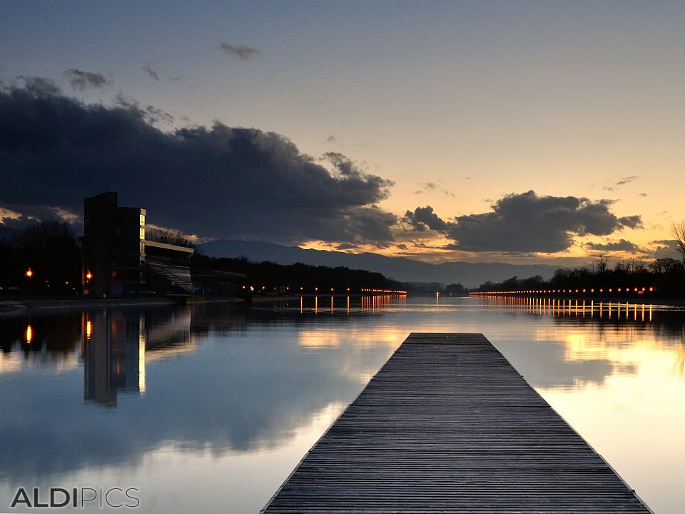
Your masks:
M 4 1 L 0 218 L 420 260 L 673 256 L 685 4 Z

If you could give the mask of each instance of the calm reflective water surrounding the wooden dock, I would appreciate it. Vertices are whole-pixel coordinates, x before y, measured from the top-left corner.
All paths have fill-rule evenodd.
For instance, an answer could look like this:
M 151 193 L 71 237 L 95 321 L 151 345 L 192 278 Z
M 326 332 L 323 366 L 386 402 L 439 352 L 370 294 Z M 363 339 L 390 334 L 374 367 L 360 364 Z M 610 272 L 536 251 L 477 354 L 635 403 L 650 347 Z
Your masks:
M 412 331 L 484 333 L 656 513 L 682 512 L 684 311 L 361 302 L 0 317 L 0 512 L 19 487 L 133 487 L 139 512 L 255 513 Z

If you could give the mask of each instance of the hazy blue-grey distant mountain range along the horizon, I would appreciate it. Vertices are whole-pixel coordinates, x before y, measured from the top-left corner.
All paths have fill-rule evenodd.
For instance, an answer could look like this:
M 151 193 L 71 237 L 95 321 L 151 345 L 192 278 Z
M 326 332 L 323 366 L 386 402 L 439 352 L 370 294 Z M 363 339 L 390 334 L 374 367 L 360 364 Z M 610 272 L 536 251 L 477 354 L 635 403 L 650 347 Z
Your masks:
M 486 281 L 500 282 L 512 276 L 527 278 L 541 275 L 552 278 L 559 266 L 546 264 L 446 262 L 430 264 L 404 257 L 386 257 L 377 253 L 345 253 L 326 250 L 305 250 L 299 246 L 283 246 L 259 241 L 220 239 L 197 246 L 198 251 L 213 257 L 246 257 L 250 261 L 270 261 L 278 264 L 305 263 L 313 266 L 345 266 L 350 269 L 377 271 L 387 278 L 402 282 L 440 282 L 445 285 L 462 283 L 477 287 Z

